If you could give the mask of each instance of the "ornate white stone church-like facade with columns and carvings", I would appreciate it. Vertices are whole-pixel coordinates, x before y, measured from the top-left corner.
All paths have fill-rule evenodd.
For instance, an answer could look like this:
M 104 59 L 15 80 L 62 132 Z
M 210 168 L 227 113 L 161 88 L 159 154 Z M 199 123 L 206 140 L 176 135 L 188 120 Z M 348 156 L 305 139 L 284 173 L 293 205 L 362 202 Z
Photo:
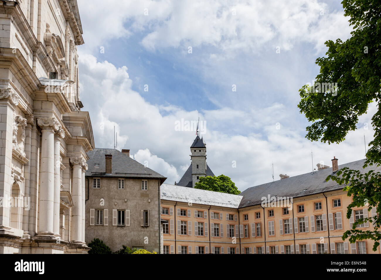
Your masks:
M 0 6 L 0 253 L 86 253 L 76 0 Z

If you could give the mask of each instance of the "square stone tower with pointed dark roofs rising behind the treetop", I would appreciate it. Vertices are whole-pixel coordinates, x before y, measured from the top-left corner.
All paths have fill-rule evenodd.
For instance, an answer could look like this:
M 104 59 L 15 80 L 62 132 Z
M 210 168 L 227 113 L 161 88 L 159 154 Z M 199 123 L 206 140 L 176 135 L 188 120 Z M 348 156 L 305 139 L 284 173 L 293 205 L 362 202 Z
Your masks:
M 200 177 L 215 176 L 207 165 L 207 146 L 203 138 L 200 138 L 199 135 L 196 136 L 191 145 L 190 156 L 192 161 L 191 165 L 177 185 L 194 188 L 196 182 L 200 180 Z

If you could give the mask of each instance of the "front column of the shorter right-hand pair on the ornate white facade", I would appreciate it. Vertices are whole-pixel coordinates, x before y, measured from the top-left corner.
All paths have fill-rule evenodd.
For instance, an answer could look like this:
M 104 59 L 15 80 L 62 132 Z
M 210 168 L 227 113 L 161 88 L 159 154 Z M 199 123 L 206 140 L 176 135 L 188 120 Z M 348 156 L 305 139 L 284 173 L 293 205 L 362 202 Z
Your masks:
M 82 166 L 85 165 L 83 157 L 71 157 L 73 165 L 72 190 L 72 242 L 82 243 Z

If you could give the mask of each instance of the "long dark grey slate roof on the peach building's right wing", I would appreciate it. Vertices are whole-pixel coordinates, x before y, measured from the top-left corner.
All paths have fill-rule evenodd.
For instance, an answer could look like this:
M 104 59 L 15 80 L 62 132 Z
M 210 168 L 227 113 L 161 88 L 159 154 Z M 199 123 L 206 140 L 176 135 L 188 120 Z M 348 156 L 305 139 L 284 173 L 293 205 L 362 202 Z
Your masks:
M 367 168 L 362 168 L 363 164 L 364 160 L 357 160 L 355 162 L 339 165 L 339 169 L 348 167 L 349 169 L 363 170 L 364 173 L 370 170 L 381 171 L 381 166 L 376 167 L 373 165 L 368 166 Z M 261 198 L 267 198 L 268 195 L 270 195 L 270 197 L 275 195 L 277 197 L 295 198 L 343 189 L 344 185 L 338 185 L 332 180 L 328 182 L 325 181 L 330 174 L 333 174 L 332 167 L 318 170 L 314 173 L 301 174 L 287 179 L 250 187 L 239 194 L 242 196 L 239 208 L 259 205 L 262 202 Z

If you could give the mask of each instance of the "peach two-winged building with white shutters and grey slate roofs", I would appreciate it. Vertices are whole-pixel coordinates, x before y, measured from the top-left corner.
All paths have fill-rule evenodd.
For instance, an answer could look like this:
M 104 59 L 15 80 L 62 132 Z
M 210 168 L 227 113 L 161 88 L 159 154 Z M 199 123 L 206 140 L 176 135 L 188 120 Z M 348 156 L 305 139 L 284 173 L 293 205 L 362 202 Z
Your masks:
M 363 160 L 251 187 L 230 195 L 163 184 L 160 190 L 164 253 L 217 254 L 379 254 L 373 241 L 342 240 L 355 219 L 375 216 L 373 208 L 353 209 L 351 198 L 329 174 L 347 166 L 361 170 Z M 374 167 L 373 167 L 374 169 Z M 377 169 L 377 168 L 376 168 Z M 379 169 L 379 168 L 378 168 Z M 364 171 L 370 170 L 365 168 Z M 358 227 L 373 230 L 369 222 Z

